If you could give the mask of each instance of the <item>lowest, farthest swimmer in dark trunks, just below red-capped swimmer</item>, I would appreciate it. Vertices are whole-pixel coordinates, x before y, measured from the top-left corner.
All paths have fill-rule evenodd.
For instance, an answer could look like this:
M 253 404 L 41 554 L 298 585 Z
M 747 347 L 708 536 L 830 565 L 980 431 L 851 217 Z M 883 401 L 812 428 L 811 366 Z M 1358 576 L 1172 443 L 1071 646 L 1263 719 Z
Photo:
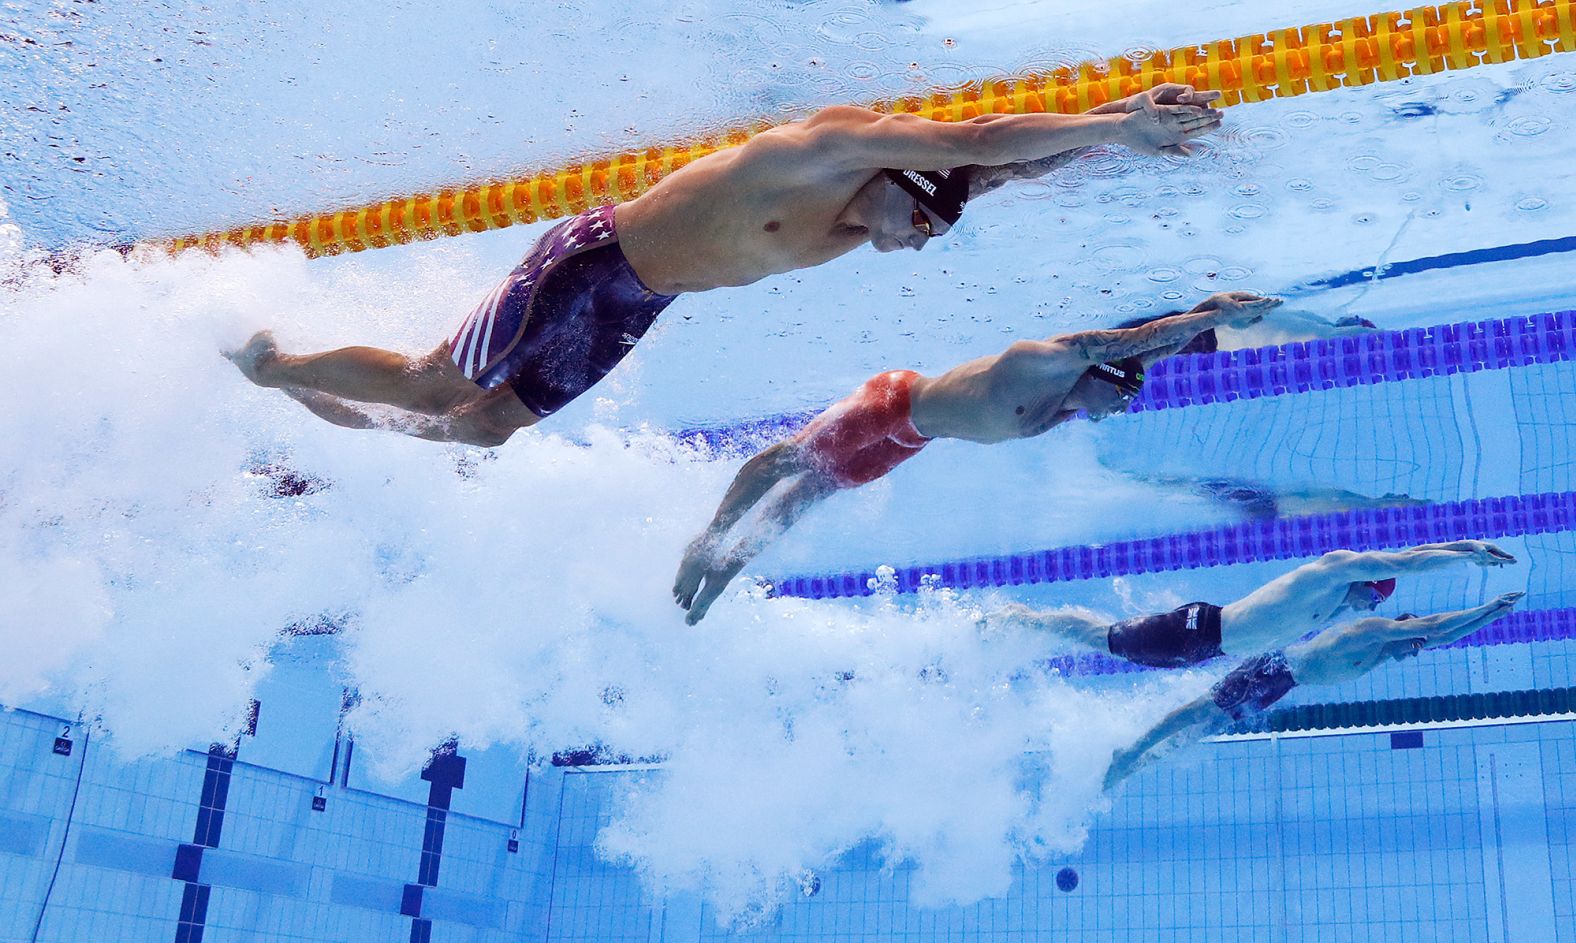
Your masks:
M 1209 694 L 1171 711 L 1132 746 L 1116 751 L 1105 788 L 1114 788 L 1157 754 L 1250 721 L 1295 688 L 1354 681 L 1385 662 L 1451 645 L 1508 615 L 1521 598 L 1522 593 L 1505 593 L 1459 612 L 1362 618 L 1283 650 L 1254 654 L 1231 669 Z

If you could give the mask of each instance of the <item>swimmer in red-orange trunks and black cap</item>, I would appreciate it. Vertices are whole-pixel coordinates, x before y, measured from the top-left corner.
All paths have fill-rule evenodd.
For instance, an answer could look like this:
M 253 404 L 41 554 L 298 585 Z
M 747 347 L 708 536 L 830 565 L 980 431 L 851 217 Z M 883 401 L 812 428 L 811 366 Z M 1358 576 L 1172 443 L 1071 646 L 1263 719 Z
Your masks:
M 1020 341 L 939 377 L 879 374 L 744 464 L 717 516 L 684 554 L 673 598 L 695 624 L 750 558 L 832 492 L 881 478 L 931 438 L 990 445 L 1042 435 L 1080 412 L 1095 421 L 1125 412 L 1149 364 L 1202 331 L 1256 323 L 1278 304 L 1226 292 L 1135 328 Z M 728 531 L 780 483 L 761 508 L 761 525 L 725 546 Z

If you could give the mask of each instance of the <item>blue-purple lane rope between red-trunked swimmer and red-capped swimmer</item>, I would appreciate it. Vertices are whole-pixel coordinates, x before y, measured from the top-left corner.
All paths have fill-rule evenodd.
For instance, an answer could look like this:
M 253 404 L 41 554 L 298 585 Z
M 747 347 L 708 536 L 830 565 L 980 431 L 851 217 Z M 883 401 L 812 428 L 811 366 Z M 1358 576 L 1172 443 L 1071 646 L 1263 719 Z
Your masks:
M 925 563 L 897 569 L 894 585 L 900 593 L 917 591 L 920 585 L 958 590 L 1017 587 L 1294 560 L 1336 549 L 1381 550 L 1559 530 L 1576 530 L 1576 492 L 1472 498 L 1412 508 L 1363 508 L 1335 514 L 1251 520 L 1111 544 Z M 832 599 L 870 596 L 876 587 L 876 572 L 865 569 L 774 580 L 771 594 Z

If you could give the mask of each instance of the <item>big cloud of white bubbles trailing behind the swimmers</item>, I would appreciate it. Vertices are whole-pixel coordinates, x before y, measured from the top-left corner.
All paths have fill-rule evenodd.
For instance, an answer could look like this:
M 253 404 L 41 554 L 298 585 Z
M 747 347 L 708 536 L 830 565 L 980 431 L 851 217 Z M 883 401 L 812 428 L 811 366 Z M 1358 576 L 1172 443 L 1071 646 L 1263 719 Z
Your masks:
M 0 697 L 71 702 L 131 755 L 224 740 L 279 629 L 351 612 L 328 669 L 362 695 L 358 757 L 399 776 L 451 735 L 665 755 L 602 848 L 723 915 L 864 840 L 917 864 L 916 899 L 966 902 L 1083 839 L 1141 719 L 1024 672 L 1043 639 L 982 639 L 944 593 L 914 612 L 747 583 L 682 624 L 673 571 L 734 462 L 599 426 L 490 454 L 351 432 L 219 355 L 263 325 L 287 347 L 426 350 L 455 314 L 430 300 L 489 281 L 452 251 L 370 271 L 106 252 L 0 295 Z M 258 460 L 333 486 L 273 497 Z M 1031 478 L 1051 503 L 1089 484 Z M 881 489 L 840 508 L 785 554 L 890 512 Z

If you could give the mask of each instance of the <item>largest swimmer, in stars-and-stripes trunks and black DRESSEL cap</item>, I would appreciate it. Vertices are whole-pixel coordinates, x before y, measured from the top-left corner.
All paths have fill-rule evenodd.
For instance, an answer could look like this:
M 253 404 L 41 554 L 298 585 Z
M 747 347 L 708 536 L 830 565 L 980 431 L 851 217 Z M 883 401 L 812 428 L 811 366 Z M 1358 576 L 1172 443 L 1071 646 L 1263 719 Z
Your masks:
M 254 383 L 340 426 L 501 445 L 594 386 L 681 293 L 747 285 L 867 243 L 920 249 L 969 197 L 1094 145 L 1187 155 L 1220 126 L 1218 98 L 1168 84 L 1083 115 L 958 123 L 831 107 L 701 158 L 635 200 L 553 226 L 426 356 L 375 347 L 292 355 L 260 331 L 230 358 Z M 389 408 L 392 421 L 378 419 Z

